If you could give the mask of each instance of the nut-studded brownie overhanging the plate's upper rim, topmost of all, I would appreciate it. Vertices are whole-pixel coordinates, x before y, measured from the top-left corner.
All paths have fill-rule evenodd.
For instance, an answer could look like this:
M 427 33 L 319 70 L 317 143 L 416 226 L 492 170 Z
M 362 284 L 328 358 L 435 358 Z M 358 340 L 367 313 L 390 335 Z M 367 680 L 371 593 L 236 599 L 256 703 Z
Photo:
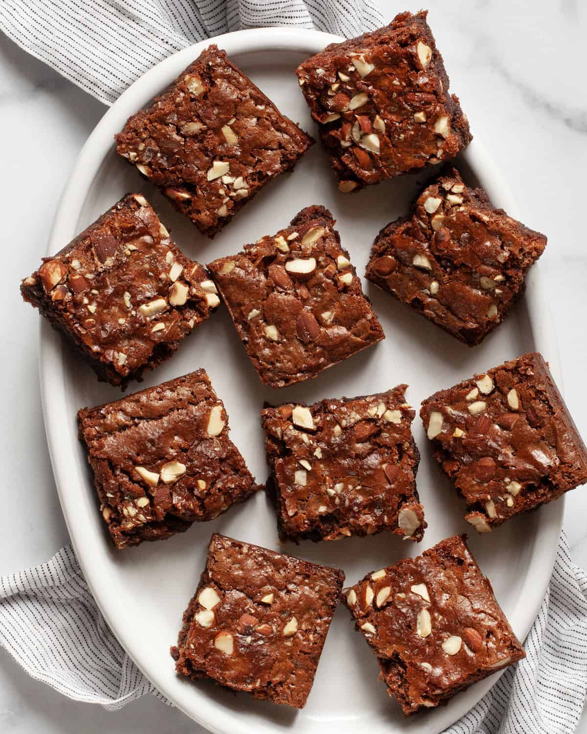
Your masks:
M 450 159 L 470 142 L 426 15 L 402 12 L 296 70 L 341 192 Z

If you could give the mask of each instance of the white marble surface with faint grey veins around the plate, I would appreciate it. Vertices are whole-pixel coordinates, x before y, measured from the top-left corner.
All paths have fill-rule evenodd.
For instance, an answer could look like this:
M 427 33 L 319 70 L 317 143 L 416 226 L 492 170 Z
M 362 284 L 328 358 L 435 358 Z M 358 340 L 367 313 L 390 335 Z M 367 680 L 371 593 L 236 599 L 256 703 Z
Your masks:
M 388 18 L 386 0 L 379 0 Z M 418 10 L 420 1 L 405 2 Z M 429 16 L 473 133 L 492 150 L 525 222 L 542 230 L 544 298 L 558 333 L 564 392 L 587 435 L 587 253 L 583 174 L 587 108 L 580 0 L 453 0 Z M 38 316 L 19 302 L 18 282 L 44 252 L 62 186 L 106 108 L 0 37 L 0 136 L 4 201 L 4 345 L 0 441 L 5 486 L 0 575 L 45 561 L 68 541 L 45 448 L 37 377 Z M 12 349 L 14 351 L 12 351 Z M 7 481 L 6 481 L 7 480 Z M 577 564 L 587 566 L 587 490 L 566 497 L 565 529 Z M 4 734 L 148 734 L 200 731 L 154 697 L 108 713 L 62 697 L 29 678 L 0 651 Z M 587 734 L 584 714 L 578 732 Z

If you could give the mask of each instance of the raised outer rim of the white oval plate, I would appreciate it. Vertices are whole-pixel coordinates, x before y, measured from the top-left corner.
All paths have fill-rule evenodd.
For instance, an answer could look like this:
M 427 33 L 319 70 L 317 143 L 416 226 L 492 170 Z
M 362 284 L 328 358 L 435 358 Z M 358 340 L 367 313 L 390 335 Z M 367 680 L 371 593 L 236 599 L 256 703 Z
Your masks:
M 309 29 L 292 29 L 283 27 L 247 29 L 227 34 L 222 34 L 210 39 L 202 40 L 183 48 L 181 51 L 172 54 L 172 56 L 163 59 L 156 66 L 147 70 L 139 79 L 131 84 L 125 92 L 117 99 L 116 102 L 106 111 L 101 120 L 93 129 L 92 133 L 85 142 L 76 164 L 68 178 L 68 182 L 59 199 L 56 208 L 54 222 L 51 233 L 48 238 L 47 254 L 53 255 L 54 252 L 61 250 L 62 242 L 69 241 L 75 236 L 79 214 L 84 206 L 89 192 L 95 172 L 98 170 L 99 164 L 103 157 L 107 155 L 112 148 L 112 134 L 108 131 L 112 129 L 118 131 L 122 129 L 126 119 L 134 114 L 137 109 L 144 106 L 145 102 L 152 98 L 158 90 L 164 88 L 171 79 L 175 79 L 183 68 L 186 68 L 194 58 L 203 51 L 203 48 L 215 43 L 220 48 L 225 48 L 229 55 L 243 55 L 258 52 L 269 51 L 304 51 L 310 56 L 327 46 L 328 43 L 338 43 L 343 40 L 334 34 L 320 32 Z M 146 96 L 145 90 L 151 90 Z M 471 162 L 471 159 L 481 161 L 484 175 L 488 175 L 492 181 L 492 186 L 484 187 L 488 190 L 489 197 L 500 203 L 508 210 L 508 213 L 519 219 L 518 209 L 508 188 L 506 181 L 497 168 L 484 146 L 474 139 L 470 143 L 464 153 L 465 159 Z M 478 166 L 473 166 L 475 170 Z M 494 191 L 492 192 L 492 189 Z M 498 189 L 498 195 L 495 195 L 495 189 Z M 504 201 L 507 204 L 504 204 Z M 73 212 L 73 214 L 72 214 Z M 71 222 L 74 225 L 71 225 Z M 67 234 L 69 233 L 69 234 Z M 531 272 L 526 278 L 527 288 L 525 294 L 525 308 L 528 314 L 532 315 L 529 319 L 531 327 L 531 337 L 533 348 L 542 352 L 550 362 L 550 370 L 553 373 L 555 382 L 562 391 L 561 368 L 559 363 L 559 352 L 556 344 L 555 328 L 553 319 L 550 314 L 550 306 L 547 299 L 541 297 L 544 293 L 542 288 L 542 277 L 539 264 L 535 264 Z M 67 374 L 65 373 L 64 363 L 60 357 L 60 337 L 56 334 L 45 320 L 41 320 L 39 335 L 39 372 L 40 372 L 40 390 L 41 401 L 43 405 L 43 418 L 45 423 L 45 433 L 47 437 L 48 451 L 51 457 L 51 466 L 54 473 L 57 493 L 59 495 L 59 503 L 68 526 L 70 540 L 79 561 L 84 578 L 87 581 L 90 591 L 94 596 L 101 614 L 103 614 L 110 630 L 120 642 L 121 647 L 131 657 L 136 666 L 147 677 L 150 683 L 166 696 L 172 703 L 183 713 L 186 713 L 191 719 L 211 732 L 218 734 L 228 734 L 233 732 L 235 725 L 235 714 L 232 709 L 224 708 L 214 701 L 214 699 L 206 696 L 205 691 L 200 691 L 195 687 L 185 687 L 181 691 L 169 691 L 169 687 L 158 680 L 157 670 L 152 669 L 148 661 L 148 653 L 142 654 L 142 650 L 135 649 L 125 639 L 125 633 L 122 627 L 124 623 L 121 621 L 120 615 L 117 616 L 114 610 L 115 603 L 109 600 L 106 594 L 102 594 L 104 581 L 102 578 L 100 564 L 90 563 L 91 548 L 88 548 L 90 540 L 84 537 L 83 528 L 78 527 L 76 518 L 74 517 L 74 507 L 76 502 L 76 494 L 79 495 L 79 487 L 71 481 L 68 481 L 67 467 L 68 462 L 75 459 L 70 457 L 65 446 L 60 446 L 59 430 L 67 421 L 72 419 L 65 410 L 65 401 L 62 401 L 63 391 L 67 389 Z M 60 389 L 56 389 L 59 386 Z M 542 506 L 538 511 L 539 520 L 534 536 L 532 557 L 536 555 L 536 545 L 540 545 L 541 564 L 539 567 L 539 584 L 543 589 L 542 595 L 536 597 L 535 603 L 528 604 L 525 613 L 519 613 L 521 617 L 518 622 L 519 636 L 525 639 L 530 630 L 539 608 L 542 604 L 544 592 L 546 592 L 548 581 L 553 570 L 556 552 L 558 548 L 558 537 L 561 533 L 562 520 L 564 515 L 564 497 L 558 501 Z M 536 569 L 535 569 L 536 570 Z M 536 589 L 537 578 L 526 578 L 522 581 L 522 589 L 520 589 L 520 598 L 531 589 Z M 521 631 L 521 632 L 520 632 Z M 462 701 L 467 703 L 466 706 L 458 705 L 458 703 L 448 707 L 439 708 L 435 712 L 434 723 L 430 728 L 430 734 L 437 734 L 456 722 L 464 713 L 473 708 L 476 703 L 489 691 L 497 678 L 503 674 L 505 670 L 492 675 L 489 678 L 474 684 L 468 689 L 468 695 L 461 694 L 459 699 L 454 701 Z M 191 688 L 189 691 L 188 688 Z M 474 691 L 473 694 L 471 692 Z M 194 702 L 195 705 L 189 705 Z M 194 710 L 197 709 L 197 710 Z M 444 712 L 444 715 L 442 715 Z M 451 713 L 449 713 L 451 712 Z M 446 714 L 449 713 L 447 716 Z M 250 727 L 249 722 L 245 724 L 240 722 L 239 726 L 243 733 L 253 734 L 258 732 L 258 728 Z M 270 727 L 270 724 L 269 724 Z

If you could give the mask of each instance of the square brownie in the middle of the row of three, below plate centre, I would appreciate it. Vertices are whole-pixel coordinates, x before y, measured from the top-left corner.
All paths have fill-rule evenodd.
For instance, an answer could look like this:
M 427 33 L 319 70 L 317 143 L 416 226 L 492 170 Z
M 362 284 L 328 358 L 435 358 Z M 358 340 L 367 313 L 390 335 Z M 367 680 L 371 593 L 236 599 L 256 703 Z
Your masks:
M 336 540 L 390 530 L 421 540 L 420 454 L 407 385 L 376 395 L 261 411 L 267 483 L 282 540 Z

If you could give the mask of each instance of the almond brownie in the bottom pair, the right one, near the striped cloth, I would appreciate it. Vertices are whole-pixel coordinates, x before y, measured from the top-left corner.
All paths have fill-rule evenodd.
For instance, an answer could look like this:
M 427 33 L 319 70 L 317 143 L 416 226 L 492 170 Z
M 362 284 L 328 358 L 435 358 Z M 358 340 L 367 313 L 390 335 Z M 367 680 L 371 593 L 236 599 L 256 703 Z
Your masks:
M 466 536 L 366 575 L 343 599 L 405 714 L 525 658 Z

